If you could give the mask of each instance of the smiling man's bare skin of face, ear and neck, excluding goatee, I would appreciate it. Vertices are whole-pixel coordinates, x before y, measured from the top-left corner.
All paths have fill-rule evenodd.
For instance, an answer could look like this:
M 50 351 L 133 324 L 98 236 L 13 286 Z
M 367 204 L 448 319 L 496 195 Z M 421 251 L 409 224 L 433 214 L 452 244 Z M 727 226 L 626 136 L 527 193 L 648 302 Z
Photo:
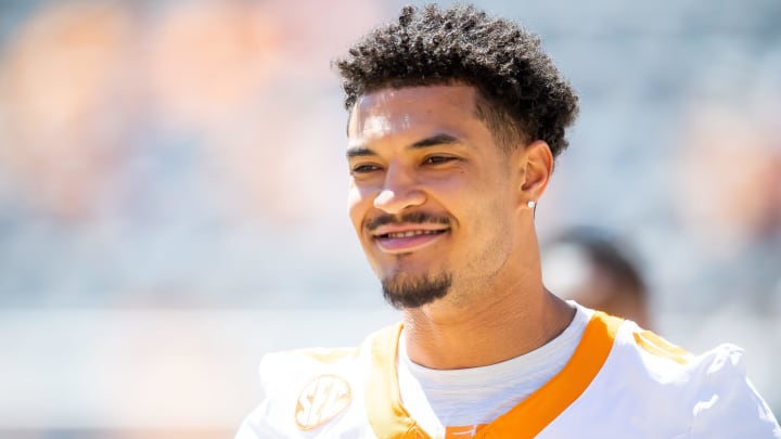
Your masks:
M 432 369 L 498 363 L 567 326 L 574 309 L 542 285 L 534 209 L 553 157 L 542 141 L 502 149 L 464 85 L 381 89 L 350 112 L 349 215 L 381 280 L 449 273 L 448 294 L 405 308 L 408 354 Z M 440 222 L 380 216 L 424 212 Z M 399 233 L 396 237 L 383 237 Z M 413 234 L 405 236 L 401 234 Z

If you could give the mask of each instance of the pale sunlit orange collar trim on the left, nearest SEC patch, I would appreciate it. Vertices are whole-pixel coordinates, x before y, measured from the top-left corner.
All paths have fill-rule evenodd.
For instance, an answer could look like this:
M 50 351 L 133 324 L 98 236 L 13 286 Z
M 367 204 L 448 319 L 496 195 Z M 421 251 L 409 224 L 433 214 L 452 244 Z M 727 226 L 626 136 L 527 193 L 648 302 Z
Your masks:
M 367 417 L 380 439 L 431 439 L 401 404 L 396 371 L 401 327 L 401 323 L 386 327 L 373 337 L 366 385 Z

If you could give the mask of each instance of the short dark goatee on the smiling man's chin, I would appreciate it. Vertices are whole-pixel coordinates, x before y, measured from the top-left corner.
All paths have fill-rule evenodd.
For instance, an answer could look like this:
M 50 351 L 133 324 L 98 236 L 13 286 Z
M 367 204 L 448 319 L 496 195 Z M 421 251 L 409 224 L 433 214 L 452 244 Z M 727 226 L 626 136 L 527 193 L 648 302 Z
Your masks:
M 415 276 L 405 279 L 396 273 L 390 279 L 382 280 L 383 296 L 396 309 L 420 308 L 447 295 L 452 284 L 452 276 L 443 273 L 438 276 Z

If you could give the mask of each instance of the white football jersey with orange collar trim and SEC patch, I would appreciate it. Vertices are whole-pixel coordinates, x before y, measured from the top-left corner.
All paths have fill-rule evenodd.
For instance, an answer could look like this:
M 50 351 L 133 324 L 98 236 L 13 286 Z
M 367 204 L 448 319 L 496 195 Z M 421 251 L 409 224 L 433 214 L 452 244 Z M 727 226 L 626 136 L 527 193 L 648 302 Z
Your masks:
M 266 356 L 266 399 L 236 439 L 435 438 L 401 402 L 400 333 L 398 324 L 358 348 Z M 739 348 L 693 356 L 601 312 L 550 380 L 488 424 L 453 427 L 447 438 L 781 438 Z

